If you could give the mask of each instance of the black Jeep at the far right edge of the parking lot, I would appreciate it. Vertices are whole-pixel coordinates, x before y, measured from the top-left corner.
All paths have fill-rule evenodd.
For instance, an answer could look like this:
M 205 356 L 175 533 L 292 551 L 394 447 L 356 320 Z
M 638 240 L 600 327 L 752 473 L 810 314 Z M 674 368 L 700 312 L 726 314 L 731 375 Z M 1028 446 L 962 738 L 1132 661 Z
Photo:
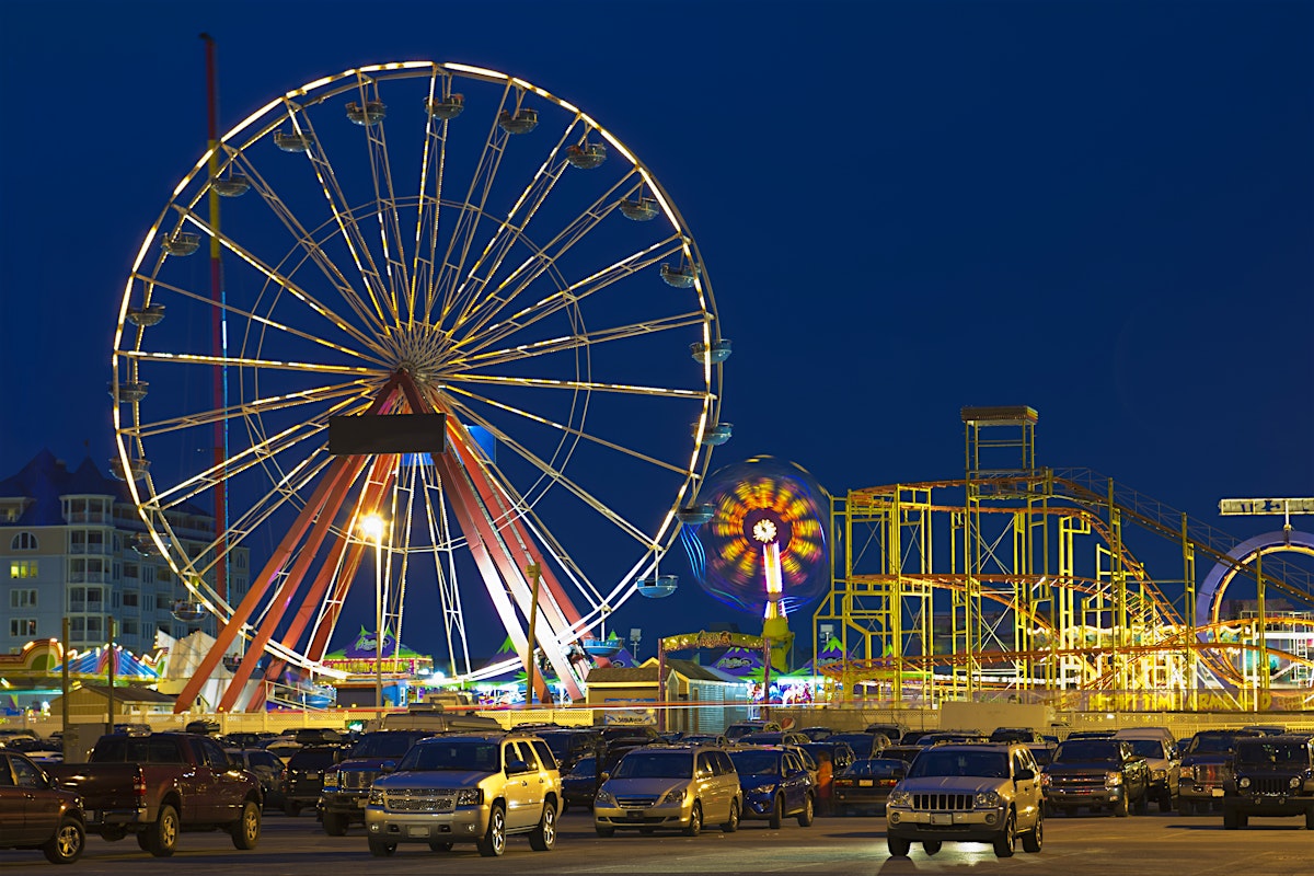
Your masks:
M 1223 797 L 1223 829 L 1251 816 L 1303 816 L 1314 830 L 1314 737 L 1263 734 L 1236 741 L 1235 781 Z

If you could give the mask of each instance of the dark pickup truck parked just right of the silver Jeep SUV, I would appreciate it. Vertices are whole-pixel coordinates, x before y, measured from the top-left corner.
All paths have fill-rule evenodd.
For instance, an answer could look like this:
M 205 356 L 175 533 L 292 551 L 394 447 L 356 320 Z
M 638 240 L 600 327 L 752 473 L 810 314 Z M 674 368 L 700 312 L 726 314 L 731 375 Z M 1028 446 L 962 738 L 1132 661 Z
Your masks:
M 1043 768 L 1045 808 L 1075 813 L 1110 809 L 1120 818 L 1134 808 L 1143 814 L 1150 801 L 1150 764 L 1123 739 L 1068 739 L 1054 750 Z

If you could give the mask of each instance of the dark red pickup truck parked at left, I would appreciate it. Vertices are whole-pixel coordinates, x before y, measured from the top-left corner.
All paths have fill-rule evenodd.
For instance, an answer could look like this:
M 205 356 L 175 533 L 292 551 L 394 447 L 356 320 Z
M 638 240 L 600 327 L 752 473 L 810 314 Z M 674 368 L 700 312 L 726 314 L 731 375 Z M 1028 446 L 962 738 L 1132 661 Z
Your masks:
M 102 735 L 87 763 L 51 764 L 50 774 L 83 799 L 88 833 L 137 834 L 156 858 L 173 854 L 181 831 L 225 830 L 237 848 L 260 839 L 260 783 L 209 737 Z

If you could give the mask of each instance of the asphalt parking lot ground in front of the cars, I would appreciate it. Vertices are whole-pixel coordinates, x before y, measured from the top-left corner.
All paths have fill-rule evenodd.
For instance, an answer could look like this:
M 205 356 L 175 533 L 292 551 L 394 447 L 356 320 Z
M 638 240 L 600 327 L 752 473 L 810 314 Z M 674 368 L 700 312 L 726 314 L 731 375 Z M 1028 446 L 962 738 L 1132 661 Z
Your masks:
M 1176 813 L 1131 818 L 1075 817 L 1046 822 L 1045 848 L 997 859 L 988 846 L 946 843 L 934 858 L 917 846 L 908 858 L 886 850 L 879 817 L 817 818 L 811 827 L 786 823 L 770 830 L 748 822 L 735 834 L 708 830 L 700 837 L 618 834 L 600 839 L 587 812 L 561 817 L 551 852 L 533 852 L 523 837 L 511 838 L 502 858 L 480 858 L 473 846 L 431 852 L 423 844 L 402 846 L 392 858 L 371 858 L 360 827 L 346 837 L 327 837 L 310 814 L 289 818 L 267 813 L 264 834 L 254 851 L 234 851 L 227 835 L 184 834 L 179 852 L 155 859 L 131 838 L 109 843 L 88 839 L 87 854 L 68 872 L 188 875 L 260 872 L 326 873 L 1055 873 L 1106 876 L 1254 872 L 1264 876 L 1309 876 L 1314 835 L 1297 818 L 1255 818 L 1247 830 L 1225 831 L 1219 816 Z M 442 863 L 440 863 L 442 862 Z M 0 873 L 66 872 L 41 852 L 0 851 Z

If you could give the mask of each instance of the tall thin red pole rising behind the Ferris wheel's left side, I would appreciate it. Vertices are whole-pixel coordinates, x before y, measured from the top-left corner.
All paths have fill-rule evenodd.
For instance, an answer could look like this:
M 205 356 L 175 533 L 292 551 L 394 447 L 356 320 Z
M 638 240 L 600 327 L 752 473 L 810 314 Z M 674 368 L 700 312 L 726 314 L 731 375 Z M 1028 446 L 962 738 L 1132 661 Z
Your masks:
M 223 293 L 223 261 L 219 246 L 219 196 L 214 190 L 214 179 L 219 175 L 219 135 L 218 135 L 218 83 L 214 64 L 214 38 L 208 33 L 201 34 L 205 41 L 205 91 L 206 91 L 206 130 L 209 137 L 210 160 L 208 162 L 210 175 L 210 302 L 214 305 L 210 318 L 210 345 L 213 353 L 221 362 L 227 362 L 229 332 L 227 332 L 227 296 Z M 214 410 L 226 411 L 229 407 L 229 366 L 221 364 L 214 369 Z M 227 473 L 225 471 L 229 456 L 227 420 L 215 418 L 214 420 L 214 470 L 218 473 L 214 485 L 214 535 L 215 563 L 214 563 L 214 590 L 219 599 L 229 598 L 229 495 Z M 223 621 L 217 621 L 223 629 Z

